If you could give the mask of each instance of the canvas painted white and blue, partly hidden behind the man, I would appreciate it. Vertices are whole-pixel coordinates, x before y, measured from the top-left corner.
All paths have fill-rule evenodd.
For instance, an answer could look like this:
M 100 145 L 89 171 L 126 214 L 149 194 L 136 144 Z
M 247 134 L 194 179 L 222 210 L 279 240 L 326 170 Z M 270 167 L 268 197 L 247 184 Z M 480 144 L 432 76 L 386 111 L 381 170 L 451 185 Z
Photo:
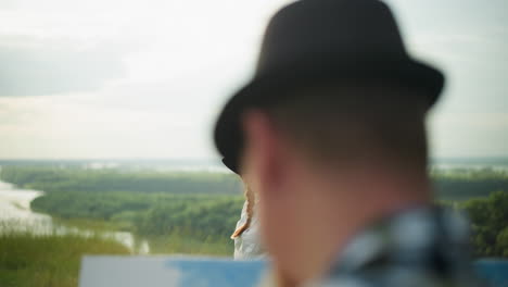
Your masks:
M 508 287 L 508 261 L 473 263 L 488 287 Z M 80 287 L 254 287 L 269 269 L 265 261 L 189 257 L 85 257 Z

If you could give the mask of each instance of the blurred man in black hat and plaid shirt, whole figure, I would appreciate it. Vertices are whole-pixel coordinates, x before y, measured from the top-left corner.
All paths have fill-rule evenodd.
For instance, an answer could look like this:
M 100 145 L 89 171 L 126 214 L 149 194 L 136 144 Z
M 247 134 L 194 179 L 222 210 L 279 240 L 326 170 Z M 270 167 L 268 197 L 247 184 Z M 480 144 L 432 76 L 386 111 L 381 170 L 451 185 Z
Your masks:
M 270 21 L 216 124 L 259 196 L 278 286 L 475 286 L 467 222 L 432 205 L 424 120 L 444 77 L 377 0 L 302 0 Z

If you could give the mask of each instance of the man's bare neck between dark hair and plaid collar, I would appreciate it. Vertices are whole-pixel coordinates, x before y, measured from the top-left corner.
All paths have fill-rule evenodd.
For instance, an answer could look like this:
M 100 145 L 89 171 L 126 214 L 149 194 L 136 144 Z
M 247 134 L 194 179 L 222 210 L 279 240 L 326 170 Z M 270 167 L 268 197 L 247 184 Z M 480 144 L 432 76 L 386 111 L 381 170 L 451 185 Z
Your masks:
M 293 272 L 302 275 L 295 279 L 300 283 L 327 272 L 352 237 L 374 221 L 431 201 L 430 183 L 424 174 L 351 170 L 317 176 L 316 180 L 302 185 L 305 188 L 302 187 L 301 197 L 305 202 L 299 220 L 305 227 L 296 236 L 306 238 L 300 241 L 304 245 L 295 247 L 303 254 L 301 264 L 296 264 L 302 270 Z

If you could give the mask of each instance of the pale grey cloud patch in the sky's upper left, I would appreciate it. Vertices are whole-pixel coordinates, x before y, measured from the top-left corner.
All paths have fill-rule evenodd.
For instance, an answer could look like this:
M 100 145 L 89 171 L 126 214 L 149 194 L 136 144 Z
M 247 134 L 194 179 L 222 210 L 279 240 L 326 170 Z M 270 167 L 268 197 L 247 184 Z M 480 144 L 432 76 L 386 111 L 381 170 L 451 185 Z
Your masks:
M 106 45 L 36 37 L 0 42 L 10 43 L 0 46 L 0 97 L 90 91 L 124 74 L 122 52 Z

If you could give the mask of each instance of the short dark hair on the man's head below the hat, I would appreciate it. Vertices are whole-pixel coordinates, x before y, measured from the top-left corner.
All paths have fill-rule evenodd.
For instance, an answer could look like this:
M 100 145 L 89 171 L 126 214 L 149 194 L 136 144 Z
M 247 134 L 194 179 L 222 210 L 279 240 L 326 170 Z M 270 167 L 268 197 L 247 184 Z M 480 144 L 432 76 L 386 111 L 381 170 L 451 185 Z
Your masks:
M 267 109 L 277 128 L 327 163 L 385 160 L 427 169 L 426 113 L 420 91 L 381 82 L 308 87 Z

